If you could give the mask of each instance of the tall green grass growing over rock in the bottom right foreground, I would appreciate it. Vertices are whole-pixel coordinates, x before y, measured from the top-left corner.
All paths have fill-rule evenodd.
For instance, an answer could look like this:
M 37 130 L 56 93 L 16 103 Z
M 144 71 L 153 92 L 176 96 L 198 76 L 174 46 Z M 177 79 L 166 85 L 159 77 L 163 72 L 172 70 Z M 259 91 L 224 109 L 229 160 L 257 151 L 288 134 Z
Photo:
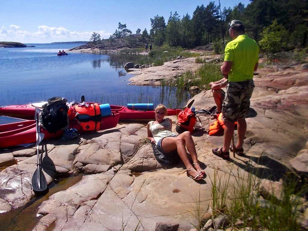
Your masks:
M 214 216 L 226 214 L 230 227 L 242 221 L 243 227 L 253 230 L 301 230 L 297 220 L 300 199 L 308 192 L 307 182 L 298 187 L 300 179 L 287 174 L 280 199 L 274 196 L 263 199 L 258 194 L 258 174 L 232 170 L 221 175 L 215 169 L 214 176 L 210 177 Z

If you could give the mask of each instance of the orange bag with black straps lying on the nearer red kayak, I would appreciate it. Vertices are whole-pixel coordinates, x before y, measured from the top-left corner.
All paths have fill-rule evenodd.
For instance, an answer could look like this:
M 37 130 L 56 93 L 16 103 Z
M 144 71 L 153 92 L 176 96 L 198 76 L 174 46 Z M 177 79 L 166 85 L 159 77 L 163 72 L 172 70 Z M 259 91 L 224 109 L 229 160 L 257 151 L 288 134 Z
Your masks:
M 78 104 L 74 106 L 76 113 L 81 115 L 94 116 L 98 118 L 100 116 L 100 108 L 98 103 L 91 103 L 90 106 L 79 106 Z M 80 121 L 79 125 L 82 127 L 83 131 L 98 131 L 100 127 L 100 121 L 89 120 L 87 122 Z

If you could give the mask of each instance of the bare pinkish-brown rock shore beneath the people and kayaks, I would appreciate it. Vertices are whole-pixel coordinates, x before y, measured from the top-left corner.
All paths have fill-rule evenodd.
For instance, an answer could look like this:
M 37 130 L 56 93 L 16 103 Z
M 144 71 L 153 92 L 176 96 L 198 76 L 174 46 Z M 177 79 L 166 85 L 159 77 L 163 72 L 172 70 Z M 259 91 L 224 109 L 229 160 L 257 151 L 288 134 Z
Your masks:
M 153 83 L 160 78 L 176 77 L 184 71 L 183 66 L 196 68 L 194 59 L 142 69 L 131 81 Z M 140 221 L 140 230 L 163 230 L 157 228 L 162 222 L 177 223 L 178 229 L 174 230 L 189 231 L 194 228 L 192 224 L 198 225 L 192 214 L 197 215 L 194 198 L 199 193 L 200 212 L 204 214 L 200 219 L 206 223 L 211 218 L 210 179 L 215 171 L 221 177 L 228 176 L 230 171 L 234 176 L 238 172 L 255 172 L 262 179 L 267 172 L 275 170 L 275 175 L 264 179 L 266 185 L 282 182 L 287 169 L 296 174 L 307 173 L 307 63 L 285 69 L 258 69 L 254 81 L 256 88 L 251 99 L 252 113 L 247 119 L 244 156 L 231 156 L 229 160 L 214 156 L 211 150 L 221 147 L 223 137 L 207 135 L 213 120 L 209 115 L 200 116 L 201 126 L 193 132 L 193 140 L 207 176 L 199 182 L 186 176 L 183 164 L 161 166 L 151 145 L 134 149 L 134 144 L 147 136 L 144 124 L 122 124 L 82 134 L 71 141 L 43 142 L 40 145 L 42 166 L 49 187 L 59 177 L 80 173 L 84 176 L 78 183 L 44 198 L 36 205 L 34 214 L 18 212 L 17 215 L 16 211 L 24 211 L 36 198 L 30 184 L 36 169 L 35 147 L 0 151 L 0 218 L 5 221 L 2 227 L 13 230 L 24 225 L 25 220 L 31 220 L 27 230 L 122 230 L 123 225 L 124 230 L 130 231 Z M 211 91 L 201 91 L 193 99 L 196 110 L 215 105 Z M 177 118 L 170 118 L 174 131 Z M 302 219 L 307 221 L 307 218 Z M 213 229 L 211 226 L 207 223 L 203 230 Z M 307 228 L 305 223 L 304 228 Z

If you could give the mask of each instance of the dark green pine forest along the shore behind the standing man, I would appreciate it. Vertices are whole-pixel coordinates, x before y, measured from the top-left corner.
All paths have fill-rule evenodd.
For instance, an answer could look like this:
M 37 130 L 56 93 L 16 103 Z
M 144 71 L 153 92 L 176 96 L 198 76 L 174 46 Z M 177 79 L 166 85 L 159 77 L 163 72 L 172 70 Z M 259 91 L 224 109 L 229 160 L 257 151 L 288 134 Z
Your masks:
M 302 0 L 251 0 L 245 6 L 241 2 L 233 8 L 221 9 L 217 2 L 197 6 L 193 15 L 180 16 L 170 12 L 166 21 L 163 16 L 150 18 L 151 28 L 138 29 L 144 41 L 157 46 L 192 48 L 208 43 L 225 45 L 229 40 L 228 23 L 241 20 L 246 34 L 260 45 L 272 47 L 275 52 L 306 47 L 308 32 L 308 3 Z M 119 22 L 112 38 L 123 38 L 132 34 L 126 24 Z M 262 47 L 261 46 L 261 47 Z

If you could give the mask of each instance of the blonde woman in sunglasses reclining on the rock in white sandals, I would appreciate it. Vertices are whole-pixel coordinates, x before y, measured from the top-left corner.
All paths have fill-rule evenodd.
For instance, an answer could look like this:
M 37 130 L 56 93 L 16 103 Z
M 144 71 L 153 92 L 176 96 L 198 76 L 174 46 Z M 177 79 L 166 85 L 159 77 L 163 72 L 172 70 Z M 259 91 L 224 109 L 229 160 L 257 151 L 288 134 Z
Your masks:
M 177 150 L 186 167 L 187 175 L 194 180 L 201 180 L 205 176 L 205 171 L 200 168 L 197 151 L 190 132 L 183 132 L 179 135 L 172 132 L 171 120 L 169 118 L 164 119 L 166 113 L 167 108 L 163 104 L 157 105 L 155 108 L 156 120 L 148 123 L 148 139 L 152 144 L 156 144 L 157 149 L 163 154 Z M 185 146 L 193 164 L 190 163 Z

